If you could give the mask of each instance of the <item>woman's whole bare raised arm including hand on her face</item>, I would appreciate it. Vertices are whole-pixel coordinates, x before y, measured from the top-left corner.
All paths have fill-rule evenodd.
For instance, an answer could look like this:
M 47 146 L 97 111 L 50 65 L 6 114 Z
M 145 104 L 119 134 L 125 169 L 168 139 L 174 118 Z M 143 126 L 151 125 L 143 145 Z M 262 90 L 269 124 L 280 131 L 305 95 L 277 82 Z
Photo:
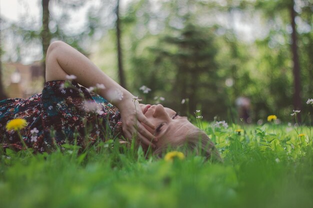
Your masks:
M 76 49 L 62 41 L 52 42 L 46 55 L 45 79 L 66 80 L 66 75 L 75 75 L 75 81 L 84 87 L 103 84 L 105 89 L 99 89 L 97 92 L 119 109 L 124 135 L 128 139 L 136 136 L 143 144 L 154 147 L 151 141 L 156 141 L 156 138 L 141 123 L 152 129 L 155 127 L 143 115 L 134 96 Z M 115 96 L 116 94 L 119 96 Z

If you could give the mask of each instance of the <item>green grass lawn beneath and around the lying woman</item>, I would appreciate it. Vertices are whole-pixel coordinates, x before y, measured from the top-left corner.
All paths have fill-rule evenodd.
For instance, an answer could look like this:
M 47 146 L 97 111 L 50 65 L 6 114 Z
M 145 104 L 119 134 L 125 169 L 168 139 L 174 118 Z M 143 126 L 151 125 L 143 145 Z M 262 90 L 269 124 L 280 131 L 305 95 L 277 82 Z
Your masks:
M 112 141 L 85 153 L 7 151 L 0 158 L 1 208 L 312 208 L 313 144 L 308 127 L 203 128 L 224 159 L 145 159 Z M 242 126 L 240 127 L 242 129 Z M 304 133 L 305 136 L 298 137 Z

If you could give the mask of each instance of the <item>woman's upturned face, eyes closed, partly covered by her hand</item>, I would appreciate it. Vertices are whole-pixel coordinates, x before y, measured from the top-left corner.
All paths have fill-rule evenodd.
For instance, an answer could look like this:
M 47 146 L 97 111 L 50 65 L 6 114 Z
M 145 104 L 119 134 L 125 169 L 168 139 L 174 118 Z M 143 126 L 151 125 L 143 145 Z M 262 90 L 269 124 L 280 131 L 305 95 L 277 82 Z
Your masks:
M 140 107 L 145 117 L 155 126 L 153 130 L 143 124 L 158 139 L 156 147 L 183 142 L 188 130 L 195 128 L 186 117 L 178 116 L 175 111 L 160 104 L 140 104 Z

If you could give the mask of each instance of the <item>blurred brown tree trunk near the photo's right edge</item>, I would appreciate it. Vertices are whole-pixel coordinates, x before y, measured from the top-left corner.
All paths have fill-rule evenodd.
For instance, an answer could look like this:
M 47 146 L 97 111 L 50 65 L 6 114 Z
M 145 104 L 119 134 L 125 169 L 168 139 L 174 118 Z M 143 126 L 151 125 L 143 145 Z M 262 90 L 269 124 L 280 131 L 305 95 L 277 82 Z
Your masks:
M 301 109 L 301 100 L 300 100 L 300 66 L 299 66 L 299 58 L 297 54 L 297 39 L 296 39 L 296 28 L 295 28 L 295 10 L 293 8 L 294 1 L 290 4 L 290 16 L 291 16 L 291 52 L 292 52 L 292 59 L 293 59 L 293 82 L 294 82 L 294 94 L 293 94 L 293 107 L 294 110 Z M 301 122 L 300 114 L 297 114 L 298 122 Z

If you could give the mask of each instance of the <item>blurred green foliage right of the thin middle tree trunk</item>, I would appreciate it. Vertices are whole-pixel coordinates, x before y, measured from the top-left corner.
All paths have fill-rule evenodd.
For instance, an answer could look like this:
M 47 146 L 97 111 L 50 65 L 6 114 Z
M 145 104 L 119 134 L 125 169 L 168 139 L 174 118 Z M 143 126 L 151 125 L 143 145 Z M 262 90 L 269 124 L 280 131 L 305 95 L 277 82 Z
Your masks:
M 297 10 L 298 17 L 305 22 L 299 25 L 301 31 L 301 27 L 311 25 L 312 11 L 306 1 L 296 6 L 302 9 Z M 255 10 L 260 13 L 253 13 Z M 262 16 L 262 38 L 242 41 L 231 25 L 236 12 L 247 15 L 246 18 Z M 288 3 L 281 0 L 230 0 L 226 5 L 197 0 L 164 1 L 157 5 L 134 1 L 123 18 L 130 89 L 140 95 L 138 88 L 146 85 L 152 91 L 141 94 L 144 102 L 154 104 L 158 101 L 153 98 L 162 96 L 162 104 L 181 114 L 201 108 L 203 116 L 211 120 L 218 116 L 236 121 L 235 100 L 243 96 L 251 101 L 252 121 L 271 113 L 290 121 L 294 83 L 288 12 Z M 230 28 L 214 24 L 216 19 L 209 14 L 227 18 Z M 211 22 L 205 22 L 206 19 Z M 302 106 L 310 112 L 303 120 L 307 124 L 313 113 L 304 104 L 312 94 L 311 34 L 310 29 L 298 34 L 299 51 L 303 51 L 299 53 Z M 227 80 L 232 82 L 228 87 Z M 188 106 L 180 105 L 183 98 L 189 98 Z

